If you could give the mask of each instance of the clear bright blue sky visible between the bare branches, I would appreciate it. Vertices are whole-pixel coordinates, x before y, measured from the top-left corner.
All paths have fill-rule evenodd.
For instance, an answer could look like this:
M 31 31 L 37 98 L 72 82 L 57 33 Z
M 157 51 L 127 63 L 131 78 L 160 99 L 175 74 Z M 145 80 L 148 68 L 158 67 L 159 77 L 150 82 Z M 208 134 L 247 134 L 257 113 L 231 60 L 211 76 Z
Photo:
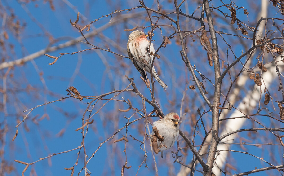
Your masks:
M 87 18 L 85 22 L 82 22 L 82 18 L 80 18 L 79 24 L 83 26 L 83 24 L 89 24 L 90 21 L 98 19 L 102 15 L 109 14 L 114 10 L 128 9 L 130 7 L 136 7 L 139 5 L 138 1 L 130 1 L 129 3 L 122 3 L 121 5 L 116 1 L 109 1 L 111 5 L 108 5 L 108 1 L 95 0 L 69 2 L 72 3 L 76 10 L 73 10 L 71 7 L 69 7 L 66 3 L 64 3 L 64 1 L 53 2 L 55 5 L 55 11 L 51 10 L 48 2 L 31 1 L 30 3 L 24 3 L 21 5 L 20 1 L 4 1 L 3 5 L 10 6 L 17 18 L 20 19 L 20 24 L 25 25 L 24 30 L 20 34 L 22 45 L 18 43 L 19 40 L 14 37 L 15 35 L 13 35 L 11 31 L 7 30 L 9 34 L 9 42 L 14 43 L 15 53 L 14 55 L 11 54 L 11 56 L 13 56 L 12 58 L 22 58 L 23 56 L 30 55 L 41 49 L 47 48 L 50 44 L 50 36 L 52 36 L 54 39 L 58 39 L 58 41 L 52 44 L 53 46 L 81 36 L 78 30 L 72 27 L 69 22 L 70 19 L 72 22 L 76 20 L 77 10 Z M 145 1 L 145 3 L 148 5 L 148 7 L 155 8 L 155 3 L 152 4 L 152 1 Z M 214 1 L 214 7 L 220 5 L 219 3 L 219 1 L 216 1 L 216 3 Z M 236 1 L 236 3 L 238 6 L 244 6 L 245 9 L 249 9 L 246 1 Z M 166 5 L 166 1 L 160 1 L 160 5 L 164 7 L 164 10 L 172 9 L 172 7 L 168 7 Z M 189 5 L 189 9 L 187 9 L 186 6 L 183 6 L 181 9 L 183 12 L 188 10 L 189 14 L 191 14 L 193 9 L 197 7 L 195 3 L 193 3 L 193 5 L 188 3 L 187 5 Z M 114 6 L 117 7 L 117 9 L 114 8 Z M 27 8 L 28 11 L 25 11 L 25 8 Z M 143 9 L 133 9 L 128 12 L 128 14 L 143 11 Z M 240 10 L 240 15 L 237 14 L 238 18 L 243 21 L 247 21 L 247 16 L 241 15 L 241 12 L 242 9 Z M 31 18 L 29 13 L 33 18 Z M 120 14 L 127 13 L 120 12 L 119 15 Z M 118 14 L 114 14 L 113 18 L 115 18 L 116 15 Z M 249 20 L 254 19 L 255 16 L 255 14 L 251 13 L 249 15 Z M 174 15 L 172 15 L 172 17 L 174 18 Z M 137 15 L 137 18 L 138 20 L 135 20 L 136 18 L 132 18 L 128 24 L 121 22 L 101 32 L 101 34 L 106 37 L 105 41 L 102 40 L 101 36 L 98 35 L 97 37 L 90 39 L 90 43 L 104 49 L 110 48 L 111 51 L 127 56 L 126 43 L 130 32 L 124 32 L 123 30 L 130 29 L 135 26 L 150 25 L 149 21 L 145 20 L 146 18 L 143 20 L 143 17 L 140 17 L 139 15 Z M 224 24 L 224 26 L 227 25 L 225 20 L 220 21 L 220 23 Z M 102 18 L 101 20 L 93 23 L 93 28 L 91 28 L 91 31 L 108 24 L 109 21 L 110 17 Z M 189 28 L 188 30 L 198 29 L 200 24 L 192 21 L 191 23 L 187 24 Z M 0 22 L 3 22 L 3 20 Z M 42 26 L 38 24 L 41 24 Z M 234 28 L 236 27 L 237 26 L 234 26 Z M 166 27 L 162 29 L 163 35 L 170 35 L 172 32 Z M 220 27 L 216 27 L 216 30 L 224 29 L 226 28 L 223 28 L 221 25 Z M 151 29 L 147 28 L 139 30 L 144 30 L 147 32 Z M 84 33 L 87 32 L 84 31 Z M 162 42 L 162 37 L 160 37 L 160 31 L 158 29 L 156 29 L 154 33 L 156 36 L 158 36 L 155 36 L 154 38 L 154 43 L 157 44 L 155 45 L 155 48 L 157 48 Z M 196 40 L 199 40 L 196 36 L 193 37 L 195 37 Z M 226 39 L 228 38 L 229 37 Z M 119 46 L 115 46 L 114 43 L 110 42 L 108 45 L 106 45 L 107 39 L 114 41 L 114 43 Z M 221 38 L 219 41 L 221 41 L 219 45 L 223 49 L 220 49 L 220 56 L 224 56 L 223 58 L 226 60 L 226 46 L 224 46 L 224 42 L 222 43 Z M 169 86 L 165 91 L 162 89 L 162 87 L 160 87 L 160 85 L 155 83 L 156 100 L 160 103 L 160 107 L 164 114 L 172 111 L 179 113 L 181 104 L 176 102 L 181 101 L 183 91 L 185 87 L 188 86 L 187 84 L 194 84 L 193 81 L 191 81 L 192 77 L 190 76 L 190 73 L 180 58 L 179 50 L 181 49 L 175 44 L 175 42 L 176 39 L 172 39 L 171 43 L 169 43 L 166 48 L 161 48 L 161 59 L 155 61 L 160 64 L 160 68 L 162 70 L 160 78 Z M 208 66 L 207 61 L 204 62 L 202 57 L 206 57 L 206 53 L 202 49 L 203 47 L 199 44 L 199 41 L 194 43 L 189 38 L 188 45 L 198 46 L 188 48 L 187 51 L 189 53 L 189 57 L 196 65 L 204 66 L 204 68 L 208 71 L 209 79 L 214 80 L 213 68 Z M 55 52 L 49 52 L 48 54 L 59 56 L 59 53 L 70 53 L 89 48 L 90 45 L 78 42 L 76 45 L 59 49 Z M 239 44 L 236 44 L 235 49 L 237 50 L 237 55 L 241 55 L 241 50 L 243 48 Z M 200 53 L 203 55 L 196 57 Z M 124 89 L 129 84 L 127 79 L 124 77 L 124 75 L 127 74 L 129 77 L 134 77 L 137 87 L 141 87 L 141 93 L 150 99 L 150 93 L 147 89 L 145 89 L 144 83 L 139 78 L 139 72 L 135 70 L 133 64 L 127 58 L 120 59 L 119 56 L 115 56 L 105 51 L 92 50 L 74 55 L 64 55 L 60 57 L 55 64 L 51 66 L 48 65 L 48 63 L 51 62 L 53 62 L 53 59 L 48 58 L 47 56 L 39 56 L 34 61 L 27 62 L 23 66 L 16 66 L 14 70 L 11 71 L 11 73 L 13 73 L 17 78 L 9 78 L 8 80 L 10 81 L 9 85 L 11 87 L 17 87 L 16 94 L 14 96 L 12 96 L 12 91 L 11 94 L 9 94 L 11 96 L 9 97 L 9 101 L 14 101 L 14 103 L 10 104 L 14 104 L 14 106 L 7 106 L 7 115 L 2 112 L 0 114 L 1 117 L 5 117 L 4 119 L 8 121 L 9 125 L 9 132 L 6 136 L 8 140 L 5 146 L 5 160 L 9 163 L 13 163 L 14 160 L 30 163 L 38 160 L 38 158 L 46 157 L 52 153 L 63 152 L 81 145 L 82 133 L 81 131 L 75 131 L 75 129 L 82 125 L 82 114 L 87 107 L 87 102 L 90 102 L 90 100 L 84 99 L 81 102 L 78 99 L 71 98 L 34 109 L 30 116 L 28 116 L 28 118 L 20 125 L 19 134 L 15 141 L 12 142 L 10 140 L 14 136 L 16 130 L 14 128 L 14 126 L 17 124 L 16 120 L 22 120 L 23 116 L 28 113 L 26 112 L 19 116 L 19 112 L 49 101 L 60 99 L 61 97 L 67 97 L 68 95 L 66 89 L 69 86 L 76 87 L 81 95 L 101 95 L 103 93 L 110 92 L 113 89 Z M 106 68 L 105 64 L 108 64 L 109 68 Z M 125 64 L 126 66 L 123 68 L 118 67 L 118 65 L 121 64 Z M 6 70 L 3 72 L 5 73 Z M 27 87 L 33 87 L 29 88 L 30 93 L 26 93 L 25 90 Z M 208 83 L 206 87 L 208 92 L 212 93 L 212 85 L 210 86 Z M 208 106 L 204 103 L 203 99 L 196 91 L 194 92 L 187 90 L 186 94 L 186 98 L 188 99 L 187 102 L 193 103 L 194 100 L 195 103 L 195 105 L 189 107 L 195 107 L 195 109 L 190 109 L 188 111 L 187 115 L 183 119 L 184 124 L 181 124 L 181 129 L 186 131 L 188 135 L 192 135 L 193 130 L 189 126 L 191 123 L 190 114 L 196 114 L 197 108 L 200 108 L 201 112 L 207 111 Z M 112 96 L 113 95 L 110 95 L 107 98 L 111 98 Z M 137 95 L 135 96 L 134 93 L 121 93 L 116 98 L 122 100 L 121 97 L 124 99 L 129 98 L 133 103 L 133 107 L 138 109 L 143 108 L 141 105 L 141 99 Z M 105 102 L 106 100 L 99 101 L 95 106 L 95 111 L 98 110 Z M 125 125 L 127 120 L 124 118 L 124 116 L 130 117 L 134 111 L 121 113 L 118 112 L 117 109 L 126 109 L 127 107 L 128 106 L 125 103 L 111 101 L 102 108 L 100 113 L 93 117 L 95 121 L 93 124 L 89 125 L 89 131 L 87 137 L 85 138 L 85 144 L 87 146 L 86 151 L 89 157 L 99 147 L 99 143 L 108 139 L 117 131 L 117 129 L 122 128 Z M 146 109 L 148 113 L 153 110 L 153 108 L 148 104 Z M 93 113 L 95 111 L 93 111 Z M 41 117 L 44 118 L 41 119 Z M 139 117 L 140 116 L 136 114 L 132 120 Z M 38 124 L 33 121 L 33 118 L 37 119 Z M 153 118 L 151 121 L 155 121 L 157 119 L 158 118 Z M 211 114 L 208 113 L 204 115 L 204 120 L 205 125 L 210 125 Z M 262 120 L 266 122 L 266 120 Z M 143 140 L 143 137 L 141 136 L 141 129 L 143 129 L 144 126 L 143 120 L 137 121 L 133 123 L 132 126 L 128 127 L 127 134 L 132 135 L 133 137 L 139 137 L 139 140 Z M 24 129 L 24 127 L 26 127 L 26 129 Z M 251 126 L 248 125 L 248 127 Z M 27 130 L 27 128 L 29 130 Z M 65 132 L 62 136 L 59 136 L 58 133 L 61 130 L 64 130 Z M 93 173 L 92 175 L 120 175 L 121 167 L 125 162 L 125 154 L 122 152 L 124 150 L 125 143 L 123 141 L 113 143 L 113 141 L 121 138 L 122 135 L 126 135 L 125 129 L 118 133 L 114 139 L 103 144 L 103 146 L 95 154 L 94 158 L 90 160 L 88 169 Z M 203 136 L 204 132 L 201 131 L 196 137 L 196 142 L 200 143 Z M 128 137 L 128 140 L 129 142 L 127 143 L 126 150 L 127 161 L 128 165 L 131 165 L 132 167 L 130 169 L 125 169 L 124 171 L 126 175 L 133 175 L 136 174 L 138 166 L 144 160 L 144 152 L 140 149 L 141 143 L 132 140 L 130 137 Z M 264 139 L 259 139 L 260 142 L 263 142 L 262 140 Z M 145 145 L 147 151 L 150 152 L 149 140 L 146 140 L 146 142 L 147 144 Z M 141 146 L 143 148 L 143 145 Z M 256 146 L 245 147 L 249 153 L 251 152 L 256 155 L 258 154 L 260 156 L 264 156 L 265 158 L 268 157 L 267 153 L 265 153 L 265 150 L 267 149 L 258 148 Z M 274 148 L 274 146 L 271 148 Z M 241 149 L 239 145 L 234 145 L 232 150 Z M 25 172 L 25 175 L 32 175 L 32 169 L 36 171 L 37 175 L 70 175 L 70 171 L 66 171 L 64 167 L 72 167 L 74 165 L 77 160 L 76 153 L 78 151 L 79 150 L 77 149 L 37 162 L 28 168 L 28 170 Z M 176 145 L 172 151 L 176 151 Z M 164 157 L 162 160 L 160 159 L 160 154 L 155 155 L 159 175 L 167 175 L 171 172 L 178 172 L 180 165 L 178 163 L 172 164 L 174 162 L 174 159 L 171 157 L 172 153 L 167 151 L 166 153 L 164 152 L 164 155 L 165 154 L 166 157 Z M 234 160 L 239 160 L 239 158 L 242 157 L 243 156 L 241 154 L 231 154 L 231 158 Z M 190 157 L 187 158 L 187 163 L 190 160 Z M 281 162 L 283 158 L 275 158 L 275 160 Z M 253 161 L 248 161 L 248 163 L 246 163 L 247 161 L 248 160 L 243 160 L 241 163 L 238 163 L 241 165 L 241 169 L 238 167 L 237 169 L 239 170 L 236 172 L 252 170 L 254 167 L 260 168 L 268 166 L 262 162 L 251 165 L 251 162 Z M 171 164 L 171 168 L 167 167 L 167 165 Z M 147 168 L 145 168 L 145 164 L 143 164 L 137 175 L 155 175 L 153 157 L 150 153 L 148 153 L 147 165 L 149 167 L 149 171 Z M 14 167 L 16 167 L 16 169 L 11 174 L 6 175 L 20 175 L 24 169 L 24 165 L 20 163 L 14 164 Z M 83 152 L 80 154 L 78 165 L 75 166 L 74 173 L 76 174 L 74 175 L 77 175 L 82 167 Z M 200 169 L 200 166 L 198 166 L 198 168 Z M 197 175 L 198 174 L 199 173 L 197 173 Z M 81 175 L 83 175 L 83 172 Z

